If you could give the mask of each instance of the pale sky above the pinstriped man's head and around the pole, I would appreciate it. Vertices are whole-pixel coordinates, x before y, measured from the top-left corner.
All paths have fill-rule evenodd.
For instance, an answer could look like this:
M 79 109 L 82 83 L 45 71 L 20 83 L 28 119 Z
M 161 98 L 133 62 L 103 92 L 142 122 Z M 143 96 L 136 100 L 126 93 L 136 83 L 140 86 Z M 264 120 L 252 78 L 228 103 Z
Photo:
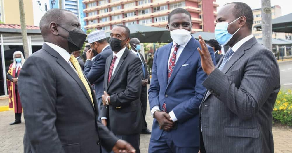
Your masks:
M 219 7 L 217 7 L 217 12 L 220 8 L 226 4 L 231 2 L 243 2 L 251 7 L 251 9 L 261 8 L 261 0 L 216 0 L 219 3 Z M 282 15 L 286 15 L 292 13 L 292 1 L 291 0 L 271 0 L 271 6 L 279 5 L 282 8 Z

